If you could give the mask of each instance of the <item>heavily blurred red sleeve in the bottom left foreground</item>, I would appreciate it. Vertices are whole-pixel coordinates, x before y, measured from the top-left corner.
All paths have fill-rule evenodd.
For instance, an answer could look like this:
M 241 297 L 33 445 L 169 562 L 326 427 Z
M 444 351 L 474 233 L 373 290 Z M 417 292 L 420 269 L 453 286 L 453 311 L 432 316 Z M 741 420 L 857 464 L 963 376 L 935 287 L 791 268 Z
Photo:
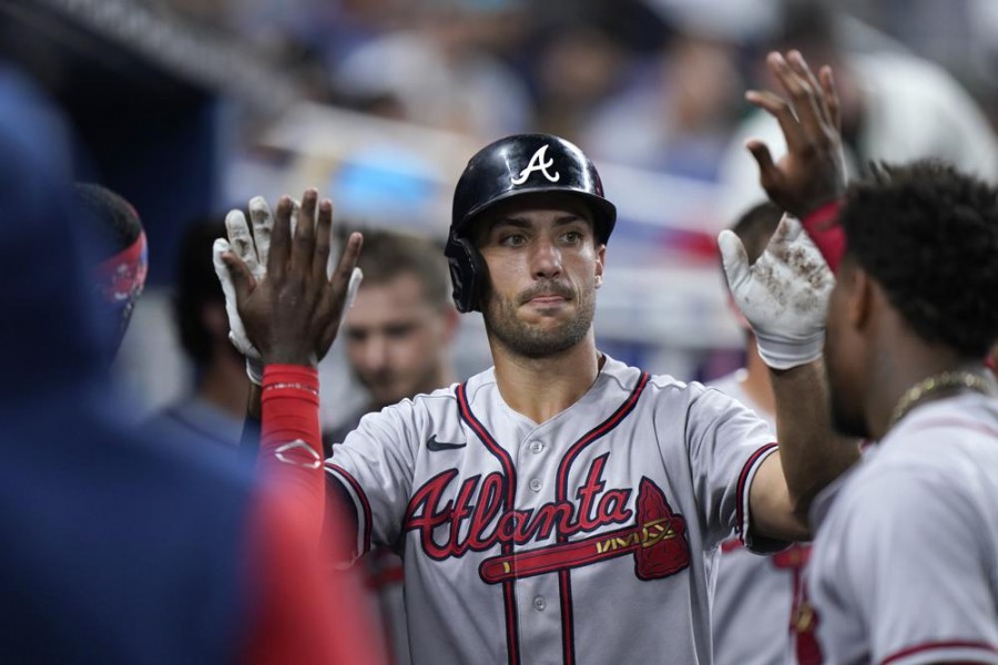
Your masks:
M 353 569 L 334 570 L 307 519 L 264 487 L 249 529 L 251 665 L 387 663 L 374 605 Z

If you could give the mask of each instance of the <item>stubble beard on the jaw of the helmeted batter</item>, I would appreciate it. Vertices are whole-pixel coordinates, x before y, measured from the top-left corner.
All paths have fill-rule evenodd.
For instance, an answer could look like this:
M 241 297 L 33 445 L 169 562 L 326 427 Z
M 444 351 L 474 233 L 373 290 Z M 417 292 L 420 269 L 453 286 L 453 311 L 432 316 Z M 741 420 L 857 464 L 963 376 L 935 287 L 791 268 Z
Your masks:
M 525 358 L 547 358 L 572 348 L 589 332 L 595 315 L 595 293 L 576 299 L 578 310 L 571 320 L 553 330 L 542 330 L 517 318 L 518 306 L 495 295 L 485 297 L 482 308 L 486 330 L 502 346 Z

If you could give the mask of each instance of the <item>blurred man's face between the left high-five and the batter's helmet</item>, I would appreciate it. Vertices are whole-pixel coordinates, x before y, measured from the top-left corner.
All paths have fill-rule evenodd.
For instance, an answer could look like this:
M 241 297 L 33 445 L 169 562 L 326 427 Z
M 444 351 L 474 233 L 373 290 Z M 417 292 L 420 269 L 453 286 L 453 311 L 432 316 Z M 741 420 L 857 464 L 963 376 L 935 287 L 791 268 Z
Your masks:
M 456 315 L 428 303 L 410 273 L 360 287 L 343 337 L 347 360 L 374 406 L 442 387 L 455 324 Z

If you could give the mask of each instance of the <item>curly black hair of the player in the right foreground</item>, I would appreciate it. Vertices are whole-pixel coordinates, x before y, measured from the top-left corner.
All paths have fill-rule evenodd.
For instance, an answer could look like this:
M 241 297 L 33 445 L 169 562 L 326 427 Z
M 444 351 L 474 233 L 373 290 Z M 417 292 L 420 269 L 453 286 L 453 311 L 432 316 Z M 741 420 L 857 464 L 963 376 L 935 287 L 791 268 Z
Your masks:
M 924 340 L 980 359 L 998 340 L 998 190 L 934 160 L 873 165 L 839 214 L 846 256 Z

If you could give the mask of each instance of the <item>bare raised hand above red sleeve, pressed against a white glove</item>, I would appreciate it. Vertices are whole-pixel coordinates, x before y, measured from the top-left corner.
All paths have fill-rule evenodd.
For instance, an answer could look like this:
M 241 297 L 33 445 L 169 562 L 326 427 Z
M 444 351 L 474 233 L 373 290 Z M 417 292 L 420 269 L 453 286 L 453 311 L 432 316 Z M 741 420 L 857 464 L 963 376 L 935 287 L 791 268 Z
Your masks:
M 256 226 L 254 219 L 254 231 Z M 265 224 L 261 227 L 266 233 Z M 319 203 L 318 194 L 309 190 L 298 209 L 286 196 L 277 204 L 273 229 L 266 234 L 269 247 L 265 270 L 259 256 L 263 236 L 256 237 L 253 256 L 241 252 L 241 243 L 221 254 L 246 336 L 266 364 L 315 367 L 336 337 L 343 313 L 359 284 L 355 267 L 361 237 L 356 233 L 349 237 L 329 277 L 332 227 L 333 204 L 328 200 Z M 254 275 L 254 257 L 259 277 Z

